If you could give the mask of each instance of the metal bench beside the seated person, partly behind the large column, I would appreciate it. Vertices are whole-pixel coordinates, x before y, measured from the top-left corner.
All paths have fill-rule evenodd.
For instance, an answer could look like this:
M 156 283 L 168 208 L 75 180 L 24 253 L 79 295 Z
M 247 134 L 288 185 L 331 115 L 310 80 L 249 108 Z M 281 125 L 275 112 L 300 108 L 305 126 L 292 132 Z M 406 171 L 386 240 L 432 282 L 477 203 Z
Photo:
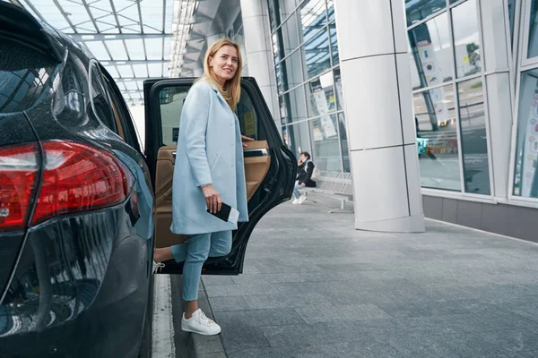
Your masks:
M 303 191 L 316 192 L 328 197 L 336 197 L 340 200 L 340 209 L 329 210 L 329 214 L 335 212 L 349 212 L 345 209 L 346 202 L 353 202 L 353 185 L 351 183 L 351 173 L 322 171 L 317 180 L 316 188 L 305 188 Z

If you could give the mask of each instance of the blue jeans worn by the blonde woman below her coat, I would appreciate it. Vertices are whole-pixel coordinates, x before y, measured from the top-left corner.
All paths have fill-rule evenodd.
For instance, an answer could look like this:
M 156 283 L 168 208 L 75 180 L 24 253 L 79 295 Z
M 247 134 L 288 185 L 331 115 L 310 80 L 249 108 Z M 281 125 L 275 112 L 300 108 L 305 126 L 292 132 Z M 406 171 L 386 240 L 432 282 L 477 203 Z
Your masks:
M 183 301 L 198 299 L 202 267 L 208 257 L 225 256 L 231 250 L 231 231 L 190 235 L 187 243 L 172 246 L 176 262 L 183 265 Z

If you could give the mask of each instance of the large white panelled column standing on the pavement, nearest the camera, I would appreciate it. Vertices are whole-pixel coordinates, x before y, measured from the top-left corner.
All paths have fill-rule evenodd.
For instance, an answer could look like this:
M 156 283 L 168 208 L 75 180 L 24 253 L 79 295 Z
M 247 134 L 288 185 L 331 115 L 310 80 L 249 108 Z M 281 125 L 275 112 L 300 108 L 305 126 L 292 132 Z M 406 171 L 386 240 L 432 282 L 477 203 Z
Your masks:
M 402 0 L 334 2 L 355 227 L 423 232 Z

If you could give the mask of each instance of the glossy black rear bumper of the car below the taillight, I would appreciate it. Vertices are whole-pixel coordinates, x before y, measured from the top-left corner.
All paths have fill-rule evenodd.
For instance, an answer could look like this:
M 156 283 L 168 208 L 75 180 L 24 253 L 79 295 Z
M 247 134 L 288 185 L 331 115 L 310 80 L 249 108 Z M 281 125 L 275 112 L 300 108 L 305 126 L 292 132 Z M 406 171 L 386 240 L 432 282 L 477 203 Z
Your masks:
M 0 357 L 136 356 L 152 241 L 127 212 L 122 205 L 30 230 L 0 304 Z

